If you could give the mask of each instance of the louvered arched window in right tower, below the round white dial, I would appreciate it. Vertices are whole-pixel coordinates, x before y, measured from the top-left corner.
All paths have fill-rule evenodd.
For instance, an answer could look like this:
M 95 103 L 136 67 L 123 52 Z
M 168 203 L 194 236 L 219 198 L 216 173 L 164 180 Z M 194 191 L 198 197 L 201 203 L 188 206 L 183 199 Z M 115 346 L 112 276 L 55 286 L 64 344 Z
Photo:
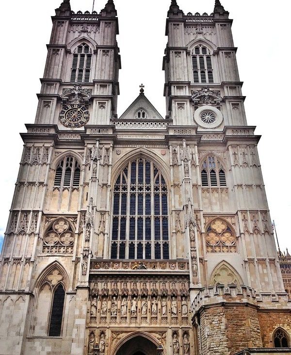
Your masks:
M 215 156 L 208 156 L 202 164 L 202 186 L 226 186 L 226 173 L 220 161 Z

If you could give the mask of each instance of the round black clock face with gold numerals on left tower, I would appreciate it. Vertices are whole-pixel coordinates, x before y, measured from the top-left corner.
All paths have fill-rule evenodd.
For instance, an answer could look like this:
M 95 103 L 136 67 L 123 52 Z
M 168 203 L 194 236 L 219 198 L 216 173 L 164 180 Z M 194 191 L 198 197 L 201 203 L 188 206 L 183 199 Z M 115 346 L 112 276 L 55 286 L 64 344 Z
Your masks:
M 89 120 L 89 111 L 81 104 L 69 104 L 60 112 L 60 121 L 65 127 L 81 127 Z

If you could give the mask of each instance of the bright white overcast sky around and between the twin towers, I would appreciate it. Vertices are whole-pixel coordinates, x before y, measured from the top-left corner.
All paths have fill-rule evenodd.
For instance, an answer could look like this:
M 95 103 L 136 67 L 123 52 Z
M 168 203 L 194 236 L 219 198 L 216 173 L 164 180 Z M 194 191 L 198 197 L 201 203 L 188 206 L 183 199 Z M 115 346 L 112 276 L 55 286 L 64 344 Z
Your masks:
M 106 0 L 95 0 L 100 11 Z M 165 19 L 170 0 L 115 0 L 121 54 L 118 115 L 139 94 L 165 115 L 162 57 L 166 45 Z M 22 153 L 19 132 L 33 123 L 39 78 L 43 76 L 51 31 L 50 16 L 61 0 L 3 1 L 1 3 L 1 166 L 0 239 L 3 238 Z M 93 0 L 71 0 L 72 10 L 92 10 Z M 178 0 L 185 14 L 211 13 L 214 0 Z M 249 125 L 262 135 L 260 162 L 271 218 L 281 250 L 291 249 L 290 129 L 287 83 L 290 74 L 290 1 L 222 0 L 230 18 L 240 79 L 244 82 Z

